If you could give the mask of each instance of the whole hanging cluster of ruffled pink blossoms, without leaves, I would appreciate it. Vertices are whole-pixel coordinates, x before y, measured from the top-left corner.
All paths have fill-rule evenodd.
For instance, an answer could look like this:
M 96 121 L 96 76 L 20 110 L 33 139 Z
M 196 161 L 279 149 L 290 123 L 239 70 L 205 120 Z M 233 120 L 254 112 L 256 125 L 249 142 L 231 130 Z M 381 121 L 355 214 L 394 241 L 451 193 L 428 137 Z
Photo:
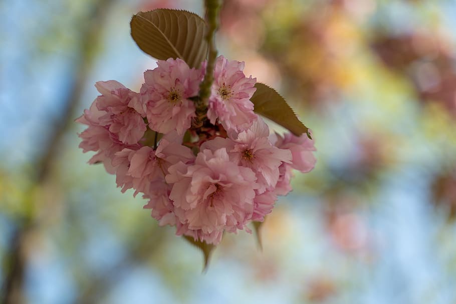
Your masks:
M 103 163 L 122 188 L 148 200 L 144 208 L 177 235 L 217 244 L 224 231 L 263 221 L 278 195 L 291 191 L 292 169 L 312 170 L 314 143 L 271 134 L 254 113 L 255 78 L 244 63 L 216 60 L 207 120 L 192 126 L 193 99 L 204 69 L 180 59 L 158 61 L 144 72 L 139 93 L 116 81 L 98 82 L 100 92 L 76 121 L 89 163 Z

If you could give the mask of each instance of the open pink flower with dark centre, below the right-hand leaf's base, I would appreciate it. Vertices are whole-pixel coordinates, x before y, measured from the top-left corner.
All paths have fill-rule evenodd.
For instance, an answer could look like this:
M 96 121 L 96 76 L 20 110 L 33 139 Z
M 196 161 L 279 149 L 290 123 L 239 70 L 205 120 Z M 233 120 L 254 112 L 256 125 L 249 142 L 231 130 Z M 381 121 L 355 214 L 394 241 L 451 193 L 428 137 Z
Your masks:
M 230 159 L 243 167 L 256 172 L 259 193 L 274 188 L 279 179 L 279 166 L 291 162 L 291 152 L 279 149 L 269 141 L 269 127 L 261 119 L 239 134 L 229 134 L 230 138 L 217 137 L 201 145 L 201 149 L 212 151 L 226 148 Z

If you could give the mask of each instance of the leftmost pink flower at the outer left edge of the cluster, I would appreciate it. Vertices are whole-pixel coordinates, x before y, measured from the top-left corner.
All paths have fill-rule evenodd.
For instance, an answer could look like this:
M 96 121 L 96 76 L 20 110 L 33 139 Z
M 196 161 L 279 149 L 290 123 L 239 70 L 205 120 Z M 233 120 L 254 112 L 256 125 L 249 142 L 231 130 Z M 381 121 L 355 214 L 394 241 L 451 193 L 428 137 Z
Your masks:
M 98 99 L 90 106 L 89 110 L 84 110 L 84 114 L 76 119 L 76 122 L 85 124 L 88 128 L 79 134 L 82 142 L 79 147 L 83 149 L 83 152 L 96 151 L 90 160 L 90 164 L 102 162 L 106 168 L 106 171 L 110 174 L 115 173 L 115 168 L 111 161 L 114 158 L 115 153 L 121 151 L 124 148 L 132 150 L 139 149 L 139 144 L 127 145 L 119 140 L 117 134 L 109 131 L 109 126 L 100 125 L 100 118 L 103 117 L 106 112 L 101 111 L 97 107 Z

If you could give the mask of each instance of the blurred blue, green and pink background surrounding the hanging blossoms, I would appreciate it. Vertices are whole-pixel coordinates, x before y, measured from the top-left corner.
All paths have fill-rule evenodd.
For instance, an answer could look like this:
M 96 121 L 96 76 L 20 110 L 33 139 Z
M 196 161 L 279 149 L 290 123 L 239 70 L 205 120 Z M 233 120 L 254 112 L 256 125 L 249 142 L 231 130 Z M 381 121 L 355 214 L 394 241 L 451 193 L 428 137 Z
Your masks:
M 197 1 L 0 2 L 0 302 L 455 303 L 456 3 L 226 0 L 219 52 L 313 130 L 255 235 L 202 255 L 78 148 L 74 119 L 155 61 L 138 11 Z M 280 130 L 279 130 L 280 131 Z

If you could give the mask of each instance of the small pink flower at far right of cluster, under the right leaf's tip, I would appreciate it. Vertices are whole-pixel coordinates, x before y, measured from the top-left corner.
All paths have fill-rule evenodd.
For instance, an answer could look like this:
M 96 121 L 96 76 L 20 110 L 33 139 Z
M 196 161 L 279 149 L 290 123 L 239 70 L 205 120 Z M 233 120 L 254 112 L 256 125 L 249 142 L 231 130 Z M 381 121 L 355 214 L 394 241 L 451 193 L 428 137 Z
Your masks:
M 315 167 L 317 159 L 313 151 L 316 151 L 314 140 L 302 134 L 300 137 L 286 133 L 284 137 L 276 134 L 275 145 L 281 149 L 289 149 L 293 156 L 291 167 L 303 173 L 311 171 Z M 274 139 L 273 139 L 274 140 Z

